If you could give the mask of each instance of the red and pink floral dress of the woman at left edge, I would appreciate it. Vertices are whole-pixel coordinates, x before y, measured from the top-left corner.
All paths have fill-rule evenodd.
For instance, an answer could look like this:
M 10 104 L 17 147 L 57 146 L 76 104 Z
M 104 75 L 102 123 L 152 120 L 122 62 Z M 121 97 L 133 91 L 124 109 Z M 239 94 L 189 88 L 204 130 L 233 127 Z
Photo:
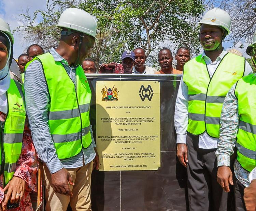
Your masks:
M 0 112 L 0 120 L 4 121 L 6 115 Z M 23 133 L 22 151 L 17 161 L 17 168 L 14 176 L 19 177 L 26 182 L 25 193 L 20 200 L 19 207 L 11 209 L 12 211 L 24 210 L 33 211 L 29 192 L 37 191 L 37 171 L 38 171 L 38 157 L 35 151 L 31 132 L 27 125 Z M 0 175 L 0 202 L 4 198 L 3 193 L 3 175 Z

